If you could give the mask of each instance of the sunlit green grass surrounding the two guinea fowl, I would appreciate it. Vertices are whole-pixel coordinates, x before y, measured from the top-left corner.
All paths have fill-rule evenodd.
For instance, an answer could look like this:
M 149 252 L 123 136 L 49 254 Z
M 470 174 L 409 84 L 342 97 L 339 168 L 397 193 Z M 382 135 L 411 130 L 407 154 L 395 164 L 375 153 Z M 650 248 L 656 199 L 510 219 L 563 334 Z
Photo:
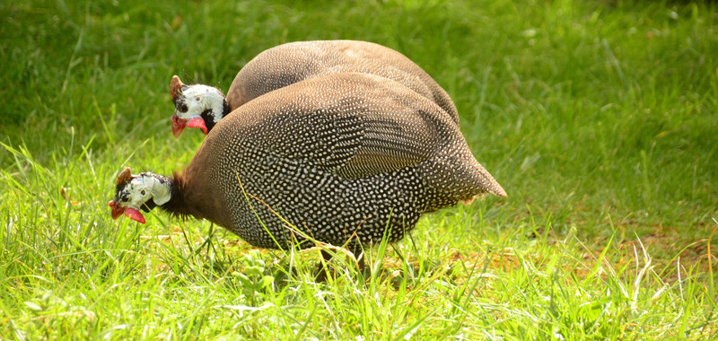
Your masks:
M 232 3 L 0 4 L 0 338 L 718 337 L 716 4 Z M 309 39 L 424 67 L 510 197 L 329 284 L 315 251 L 111 220 L 118 170 L 169 174 L 203 137 L 171 137 L 172 74 L 226 91 Z

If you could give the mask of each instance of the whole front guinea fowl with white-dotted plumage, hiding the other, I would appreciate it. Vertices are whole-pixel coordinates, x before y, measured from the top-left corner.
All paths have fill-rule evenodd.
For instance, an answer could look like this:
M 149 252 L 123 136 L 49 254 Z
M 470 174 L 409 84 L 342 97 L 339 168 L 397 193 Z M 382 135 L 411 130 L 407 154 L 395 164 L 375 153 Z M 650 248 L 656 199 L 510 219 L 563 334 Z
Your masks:
M 109 205 L 141 223 L 155 206 L 204 218 L 260 248 L 314 246 L 308 235 L 359 256 L 486 192 L 506 195 L 433 101 L 372 74 L 328 74 L 234 110 L 173 177 L 123 171 Z

